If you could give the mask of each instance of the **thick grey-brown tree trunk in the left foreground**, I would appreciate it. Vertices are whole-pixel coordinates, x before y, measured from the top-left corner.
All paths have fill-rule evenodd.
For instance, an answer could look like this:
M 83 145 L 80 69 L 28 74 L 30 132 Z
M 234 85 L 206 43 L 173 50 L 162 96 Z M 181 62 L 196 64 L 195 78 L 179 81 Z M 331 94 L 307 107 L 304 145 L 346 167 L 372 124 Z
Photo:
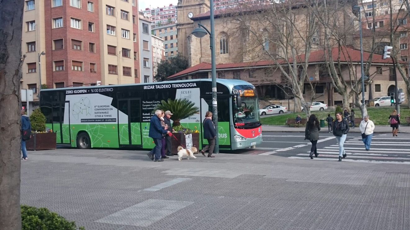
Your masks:
M 0 229 L 21 229 L 19 108 L 24 1 L 0 1 Z

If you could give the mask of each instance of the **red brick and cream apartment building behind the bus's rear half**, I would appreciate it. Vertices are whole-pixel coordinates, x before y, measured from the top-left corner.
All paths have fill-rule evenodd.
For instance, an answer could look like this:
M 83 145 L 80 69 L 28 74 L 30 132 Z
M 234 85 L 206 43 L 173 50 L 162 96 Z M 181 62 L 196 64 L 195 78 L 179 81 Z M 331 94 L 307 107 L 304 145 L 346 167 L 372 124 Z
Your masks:
M 37 99 L 39 56 L 48 88 L 141 82 L 138 22 L 137 0 L 26 1 L 22 88 Z

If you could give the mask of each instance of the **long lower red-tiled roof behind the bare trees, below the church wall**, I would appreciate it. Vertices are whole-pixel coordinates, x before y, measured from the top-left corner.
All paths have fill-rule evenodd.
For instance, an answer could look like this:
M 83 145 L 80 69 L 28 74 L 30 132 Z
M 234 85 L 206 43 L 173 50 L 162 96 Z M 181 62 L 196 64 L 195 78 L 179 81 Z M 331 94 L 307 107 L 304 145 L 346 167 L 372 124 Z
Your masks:
M 360 63 L 360 50 L 343 47 L 339 52 L 338 48 L 333 48 L 332 49 L 333 61 L 337 61 L 339 55 L 340 55 L 341 62 Z M 363 52 L 363 61 L 367 61 L 369 57 L 370 57 L 369 52 Z M 303 62 L 305 59 L 305 55 L 299 56 L 298 59 L 300 60 L 299 62 Z M 325 61 L 326 59 L 325 59 L 323 50 L 318 50 L 318 51 L 314 51 L 310 53 L 309 63 L 317 63 L 317 62 L 320 63 L 320 62 L 325 62 Z M 280 61 L 280 62 L 285 63 L 285 61 Z M 292 59 L 289 60 L 289 62 L 292 63 Z M 392 64 L 392 59 L 382 59 L 382 55 L 373 54 L 372 63 Z M 400 63 L 407 64 L 403 61 L 400 61 Z M 223 64 L 217 64 L 216 70 L 231 69 L 231 68 L 249 68 L 249 67 L 255 67 L 255 66 L 269 66 L 269 65 L 274 65 L 274 62 L 272 60 L 269 60 L 269 61 L 256 61 L 256 62 L 241 62 L 241 63 L 223 63 Z M 194 73 L 194 72 L 201 71 L 201 70 L 211 70 L 211 69 L 212 69 L 212 66 L 210 63 L 202 62 L 186 70 L 182 70 L 181 72 L 173 74 L 169 76 L 168 78 L 170 79 L 170 78 L 179 77 L 182 75 Z

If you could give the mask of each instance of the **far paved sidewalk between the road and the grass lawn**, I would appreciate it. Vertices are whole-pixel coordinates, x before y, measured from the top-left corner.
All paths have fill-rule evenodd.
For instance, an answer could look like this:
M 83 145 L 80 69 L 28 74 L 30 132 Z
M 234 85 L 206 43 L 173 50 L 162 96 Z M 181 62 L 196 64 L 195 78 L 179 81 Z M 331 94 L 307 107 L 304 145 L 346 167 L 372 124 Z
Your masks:
M 410 133 L 410 126 L 404 125 L 400 126 L 399 133 Z M 303 133 L 305 132 L 305 126 L 293 127 L 293 126 L 284 126 L 284 125 L 262 125 L 263 132 L 272 132 L 272 133 Z M 328 126 L 321 128 L 321 132 L 328 132 Z M 350 128 L 349 132 L 360 133 L 359 127 L 354 129 Z M 374 133 L 392 133 L 392 128 L 390 126 L 376 126 Z

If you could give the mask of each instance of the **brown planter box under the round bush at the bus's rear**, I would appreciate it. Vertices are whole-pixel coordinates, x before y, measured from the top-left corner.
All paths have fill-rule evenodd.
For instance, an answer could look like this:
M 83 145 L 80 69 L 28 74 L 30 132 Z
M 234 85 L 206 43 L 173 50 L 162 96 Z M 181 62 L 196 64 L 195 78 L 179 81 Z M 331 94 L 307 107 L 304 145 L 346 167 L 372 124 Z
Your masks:
M 30 140 L 26 140 L 27 150 L 56 149 L 57 133 L 32 133 Z

